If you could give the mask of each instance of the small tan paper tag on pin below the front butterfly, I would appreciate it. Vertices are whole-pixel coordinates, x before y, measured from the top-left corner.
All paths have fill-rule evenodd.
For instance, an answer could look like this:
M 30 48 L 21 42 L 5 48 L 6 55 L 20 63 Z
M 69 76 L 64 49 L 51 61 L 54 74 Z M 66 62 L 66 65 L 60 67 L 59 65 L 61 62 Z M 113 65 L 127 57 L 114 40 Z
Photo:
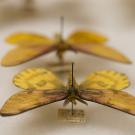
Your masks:
M 58 119 L 61 121 L 68 121 L 72 123 L 85 123 L 86 118 L 83 110 L 74 109 L 59 109 Z

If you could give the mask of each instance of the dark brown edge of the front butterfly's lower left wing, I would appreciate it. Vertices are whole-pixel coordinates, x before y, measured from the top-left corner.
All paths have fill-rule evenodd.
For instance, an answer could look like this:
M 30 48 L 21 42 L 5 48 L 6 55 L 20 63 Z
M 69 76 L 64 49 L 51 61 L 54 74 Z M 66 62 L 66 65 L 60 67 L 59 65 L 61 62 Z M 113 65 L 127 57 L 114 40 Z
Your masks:
M 46 91 L 47 92 L 47 91 Z M 50 90 L 49 90 L 49 92 L 50 92 Z M 63 98 L 61 98 L 61 99 L 58 99 L 58 100 L 55 100 L 55 101 L 52 101 L 52 102 L 49 102 L 49 103 L 46 103 L 46 104 L 41 104 L 41 105 L 38 105 L 38 106 L 35 106 L 35 107 L 33 107 L 33 108 L 30 108 L 30 109 L 27 109 L 27 110 L 24 110 L 24 111 L 22 111 L 22 112 L 18 112 L 18 113 L 2 113 L 2 109 L 0 109 L 0 116 L 2 116 L 2 117 L 9 117 L 9 116 L 16 116 L 16 115 L 19 115 L 19 114 L 22 114 L 22 113 L 25 113 L 25 112 L 27 112 L 27 111 L 31 111 L 31 110 L 33 110 L 33 109 L 36 109 L 36 108 L 39 108 L 39 107 L 42 107 L 42 106 L 44 106 L 44 105 L 49 105 L 49 104 L 51 104 L 51 103 L 55 103 L 55 102 L 59 102 L 59 101 L 62 101 L 62 100 L 65 100 L 66 98 L 67 98 L 67 93 L 66 92 L 64 92 L 65 93 L 65 96 L 63 97 Z M 16 93 L 17 94 L 17 93 Z M 14 95 L 13 95 L 14 96 Z M 11 96 L 12 97 L 12 96 Z M 11 98 L 10 97 L 10 98 Z M 9 99 L 10 99 L 9 98 Z M 6 101 L 7 102 L 7 101 Z M 6 104 L 6 103 L 5 103 Z M 4 107 L 4 105 L 3 105 L 3 107 Z M 3 108 L 2 107 L 2 108 Z

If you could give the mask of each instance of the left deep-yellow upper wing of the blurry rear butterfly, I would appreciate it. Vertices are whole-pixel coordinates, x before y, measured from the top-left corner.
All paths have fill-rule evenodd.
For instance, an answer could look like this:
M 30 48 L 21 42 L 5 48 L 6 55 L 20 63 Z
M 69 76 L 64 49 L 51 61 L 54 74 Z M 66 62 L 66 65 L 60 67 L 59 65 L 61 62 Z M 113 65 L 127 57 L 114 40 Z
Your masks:
M 50 38 L 32 33 L 15 33 L 6 38 L 9 44 L 18 46 L 33 46 L 33 45 L 52 45 L 54 41 Z

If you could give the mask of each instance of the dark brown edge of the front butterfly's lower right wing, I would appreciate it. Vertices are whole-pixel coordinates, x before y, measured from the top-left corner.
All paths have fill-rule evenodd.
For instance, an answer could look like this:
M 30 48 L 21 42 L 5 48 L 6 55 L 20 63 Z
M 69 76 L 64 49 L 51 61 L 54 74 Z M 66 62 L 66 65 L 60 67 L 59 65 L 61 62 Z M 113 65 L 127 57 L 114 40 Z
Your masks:
M 94 90 L 95 91 L 95 90 Z M 108 90 L 107 90 L 108 91 Z M 107 105 L 107 104 L 105 104 L 105 103 L 101 103 L 101 102 L 98 102 L 98 101 L 96 101 L 96 99 L 88 99 L 88 98 L 85 98 L 85 97 L 83 97 L 82 96 L 82 92 L 84 92 L 84 90 L 80 90 L 80 92 L 79 92 L 79 97 L 81 98 L 81 99 L 83 99 L 83 100 L 86 100 L 86 101 L 91 101 L 91 102 L 94 102 L 94 103 L 97 103 L 97 104 L 101 104 L 101 105 L 104 105 L 104 106 L 107 106 L 107 107 L 110 107 L 110 108 L 113 108 L 113 109 L 115 109 L 115 110 L 118 110 L 118 111 L 120 111 L 120 112 L 124 112 L 124 113 L 127 113 L 127 114 L 130 114 L 130 115 L 132 115 L 132 116 L 135 116 L 135 110 L 134 110 L 134 112 L 132 112 L 132 111 L 130 111 L 130 110 L 128 110 L 128 109 L 123 109 L 123 108 L 119 108 L 119 107 L 116 107 L 116 106 L 113 106 L 113 105 Z M 85 91 L 85 92 L 88 92 L 88 91 Z M 123 91 L 115 91 L 115 92 L 123 92 Z M 124 92 L 124 93 L 127 93 L 127 92 Z M 128 93 L 127 93 L 128 94 Z M 128 95 L 130 95 L 130 94 L 128 94 Z M 132 95 L 130 95 L 130 96 L 132 96 Z M 133 96 L 132 96 L 133 97 Z M 135 98 L 135 97 L 134 97 Z

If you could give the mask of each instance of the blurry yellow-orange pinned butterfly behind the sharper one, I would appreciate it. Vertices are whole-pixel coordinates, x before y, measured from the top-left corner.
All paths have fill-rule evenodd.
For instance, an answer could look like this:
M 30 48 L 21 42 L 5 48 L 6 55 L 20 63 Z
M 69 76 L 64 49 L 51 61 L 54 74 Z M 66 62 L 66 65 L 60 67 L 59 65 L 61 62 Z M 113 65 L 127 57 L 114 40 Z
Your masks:
M 15 66 L 49 52 L 56 51 L 60 63 L 64 63 L 63 54 L 66 51 L 83 52 L 109 60 L 129 64 L 131 61 L 117 50 L 106 45 L 108 39 L 95 32 L 79 30 L 73 32 L 67 39 L 63 38 L 63 18 L 61 19 L 61 32 L 54 39 L 31 33 L 16 33 L 9 36 L 6 41 L 16 45 L 2 59 L 3 66 Z

